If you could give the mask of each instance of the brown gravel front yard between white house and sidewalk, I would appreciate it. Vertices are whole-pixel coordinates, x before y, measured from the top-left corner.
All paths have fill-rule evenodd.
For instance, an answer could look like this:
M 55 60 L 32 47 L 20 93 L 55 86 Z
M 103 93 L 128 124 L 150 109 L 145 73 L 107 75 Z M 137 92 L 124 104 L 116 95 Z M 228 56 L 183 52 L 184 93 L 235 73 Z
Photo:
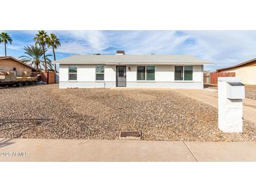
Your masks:
M 140 130 L 144 140 L 252 141 L 217 128 L 217 109 L 174 90 L 58 89 L 35 85 L 0 89 L 0 137 L 119 139 Z

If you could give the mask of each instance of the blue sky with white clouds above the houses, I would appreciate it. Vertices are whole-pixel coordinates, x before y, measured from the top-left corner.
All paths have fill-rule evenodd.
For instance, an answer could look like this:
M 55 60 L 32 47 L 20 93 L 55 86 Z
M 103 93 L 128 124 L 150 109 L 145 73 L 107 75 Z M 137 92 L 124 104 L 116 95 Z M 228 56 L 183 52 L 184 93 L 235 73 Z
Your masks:
M 1 31 L 2 32 L 2 31 Z M 8 44 L 7 55 L 20 57 L 23 46 L 34 44 L 37 31 L 5 31 L 13 43 Z M 56 50 L 60 59 L 77 54 L 181 54 L 210 60 L 205 68 L 215 70 L 256 57 L 256 31 L 50 31 L 56 34 L 62 46 Z M 48 50 L 51 53 L 51 50 Z M 0 44 L 4 55 L 4 44 Z

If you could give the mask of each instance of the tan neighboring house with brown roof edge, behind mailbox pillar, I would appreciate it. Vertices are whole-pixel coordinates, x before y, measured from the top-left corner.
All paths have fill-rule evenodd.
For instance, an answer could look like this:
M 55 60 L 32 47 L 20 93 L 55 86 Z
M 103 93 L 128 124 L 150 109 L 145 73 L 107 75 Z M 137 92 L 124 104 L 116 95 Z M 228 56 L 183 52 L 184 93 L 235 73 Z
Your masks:
M 247 85 L 256 85 L 256 58 L 236 64 L 232 67 L 217 69 L 218 72 L 235 72 L 236 76 L 241 78 L 242 83 Z

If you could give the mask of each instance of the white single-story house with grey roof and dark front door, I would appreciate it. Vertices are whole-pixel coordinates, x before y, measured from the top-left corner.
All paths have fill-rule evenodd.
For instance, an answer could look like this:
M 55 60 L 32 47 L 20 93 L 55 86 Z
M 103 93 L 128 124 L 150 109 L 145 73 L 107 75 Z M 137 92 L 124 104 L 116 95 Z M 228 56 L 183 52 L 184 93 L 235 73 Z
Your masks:
M 203 88 L 203 64 L 189 55 L 75 55 L 58 60 L 60 88 Z

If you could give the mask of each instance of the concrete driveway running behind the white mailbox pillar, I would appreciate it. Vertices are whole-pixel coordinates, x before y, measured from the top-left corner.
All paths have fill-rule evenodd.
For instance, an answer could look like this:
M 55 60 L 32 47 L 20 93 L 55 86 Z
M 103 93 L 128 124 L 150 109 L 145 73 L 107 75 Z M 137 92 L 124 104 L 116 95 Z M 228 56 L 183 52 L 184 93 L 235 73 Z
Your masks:
M 217 90 L 203 89 L 203 90 L 175 90 L 187 97 L 191 97 L 194 100 L 210 104 L 213 107 L 218 107 Z M 251 121 L 256 124 L 256 100 L 245 99 L 243 101 L 243 117 L 245 120 Z

